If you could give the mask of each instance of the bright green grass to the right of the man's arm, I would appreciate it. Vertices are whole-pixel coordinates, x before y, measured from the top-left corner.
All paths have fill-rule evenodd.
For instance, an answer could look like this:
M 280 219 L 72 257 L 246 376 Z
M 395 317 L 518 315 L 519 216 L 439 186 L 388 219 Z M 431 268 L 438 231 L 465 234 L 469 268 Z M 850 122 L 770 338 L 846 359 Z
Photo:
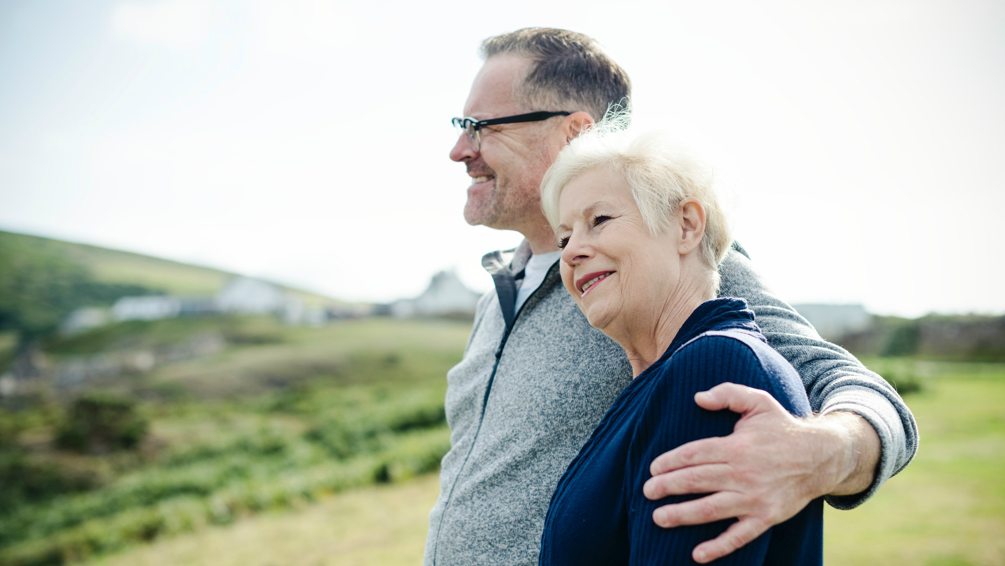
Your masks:
M 1005 366 L 928 372 L 906 397 L 918 457 L 860 508 L 829 510 L 828 564 L 1005 564 Z

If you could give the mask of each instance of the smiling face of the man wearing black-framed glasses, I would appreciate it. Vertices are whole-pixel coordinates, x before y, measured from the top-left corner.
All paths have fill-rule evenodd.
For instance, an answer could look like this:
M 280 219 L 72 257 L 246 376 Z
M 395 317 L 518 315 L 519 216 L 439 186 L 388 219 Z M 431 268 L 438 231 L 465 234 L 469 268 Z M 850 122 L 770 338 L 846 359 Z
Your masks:
M 515 55 L 490 57 L 474 77 L 464 115 L 487 119 L 564 109 L 528 108 L 517 102 L 514 94 L 530 64 L 530 60 Z M 521 232 L 524 227 L 547 224 L 541 212 L 539 186 L 565 143 L 559 131 L 560 119 L 484 126 L 477 153 L 467 136 L 460 134 L 450 159 L 464 163 L 471 177 L 464 206 L 468 224 Z

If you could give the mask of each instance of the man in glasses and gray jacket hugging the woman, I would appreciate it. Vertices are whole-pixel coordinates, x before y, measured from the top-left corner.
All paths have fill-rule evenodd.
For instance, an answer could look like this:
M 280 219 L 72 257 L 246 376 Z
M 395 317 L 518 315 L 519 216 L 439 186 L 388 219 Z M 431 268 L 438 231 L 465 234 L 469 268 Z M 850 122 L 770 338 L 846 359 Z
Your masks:
M 627 100 L 625 72 L 591 38 L 529 28 L 491 37 L 450 159 L 471 177 L 464 219 L 516 230 L 516 250 L 482 265 L 495 283 L 478 303 L 464 357 L 447 374 L 451 449 L 429 516 L 427 565 L 535 564 L 555 485 L 631 368 L 561 284 L 539 185 L 562 148 Z M 822 340 L 771 295 L 738 245 L 721 293 L 747 299 L 772 346 L 799 371 L 818 416 L 793 419 L 754 389 L 725 384 L 696 396 L 743 413 L 734 433 L 656 459 L 645 496 L 711 494 L 657 509 L 660 526 L 738 518 L 698 545 L 697 562 L 729 554 L 822 495 L 857 506 L 911 461 L 918 431 L 896 392 Z M 727 376 L 728 378 L 728 376 Z

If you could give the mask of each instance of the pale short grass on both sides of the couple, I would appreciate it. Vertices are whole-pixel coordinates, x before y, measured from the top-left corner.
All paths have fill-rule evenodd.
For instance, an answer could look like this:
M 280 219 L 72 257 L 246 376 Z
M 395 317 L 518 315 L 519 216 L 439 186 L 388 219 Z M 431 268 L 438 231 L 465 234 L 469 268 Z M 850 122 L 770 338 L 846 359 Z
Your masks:
M 907 400 L 921 451 L 860 508 L 828 508 L 828 565 L 1005 564 L 1005 366 L 922 364 L 918 371 L 923 389 Z M 437 490 L 434 476 L 366 488 L 87 566 L 417 564 Z

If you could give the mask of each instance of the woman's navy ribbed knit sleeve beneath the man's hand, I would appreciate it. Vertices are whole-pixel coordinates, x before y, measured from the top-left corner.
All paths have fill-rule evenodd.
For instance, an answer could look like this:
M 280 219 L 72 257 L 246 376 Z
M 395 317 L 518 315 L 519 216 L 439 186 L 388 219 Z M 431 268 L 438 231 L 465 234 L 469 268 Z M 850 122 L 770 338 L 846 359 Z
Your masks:
M 631 564 L 693 564 L 691 551 L 699 543 L 712 540 L 725 531 L 733 520 L 706 525 L 663 529 L 652 521 L 653 511 L 662 505 L 696 499 L 698 495 L 671 496 L 649 501 L 642 486 L 651 475 L 649 463 L 666 451 L 685 443 L 710 437 L 724 437 L 733 432 L 739 415 L 730 410 L 710 411 L 694 403 L 694 393 L 724 381 L 764 389 L 772 393 L 789 411 L 807 414 L 809 404 L 798 377 L 767 345 L 755 351 L 744 341 L 725 336 L 702 336 L 685 345 L 670 357 L 653 383 L 647 407 L 641 413 L 632 435 L 624 500 L 628 504 L 628 532 Z M 774 357 L 773 357 L 774 356 Z M 785 365 L 783 365 L 785 364 Z M 629 480 L 630 479 L 630 480 Z M 716 564 L 814 564 L 822 559 L 822 520 L 820 502 L 812 505 L 797 523 L 783 524 L 785 551 L 795 553 L 772 559 L 771 538 L 778 527 Z M 804 510 L 805 511 L 805 510 Z M 790 561 L 791 560 L 791 561 Z

